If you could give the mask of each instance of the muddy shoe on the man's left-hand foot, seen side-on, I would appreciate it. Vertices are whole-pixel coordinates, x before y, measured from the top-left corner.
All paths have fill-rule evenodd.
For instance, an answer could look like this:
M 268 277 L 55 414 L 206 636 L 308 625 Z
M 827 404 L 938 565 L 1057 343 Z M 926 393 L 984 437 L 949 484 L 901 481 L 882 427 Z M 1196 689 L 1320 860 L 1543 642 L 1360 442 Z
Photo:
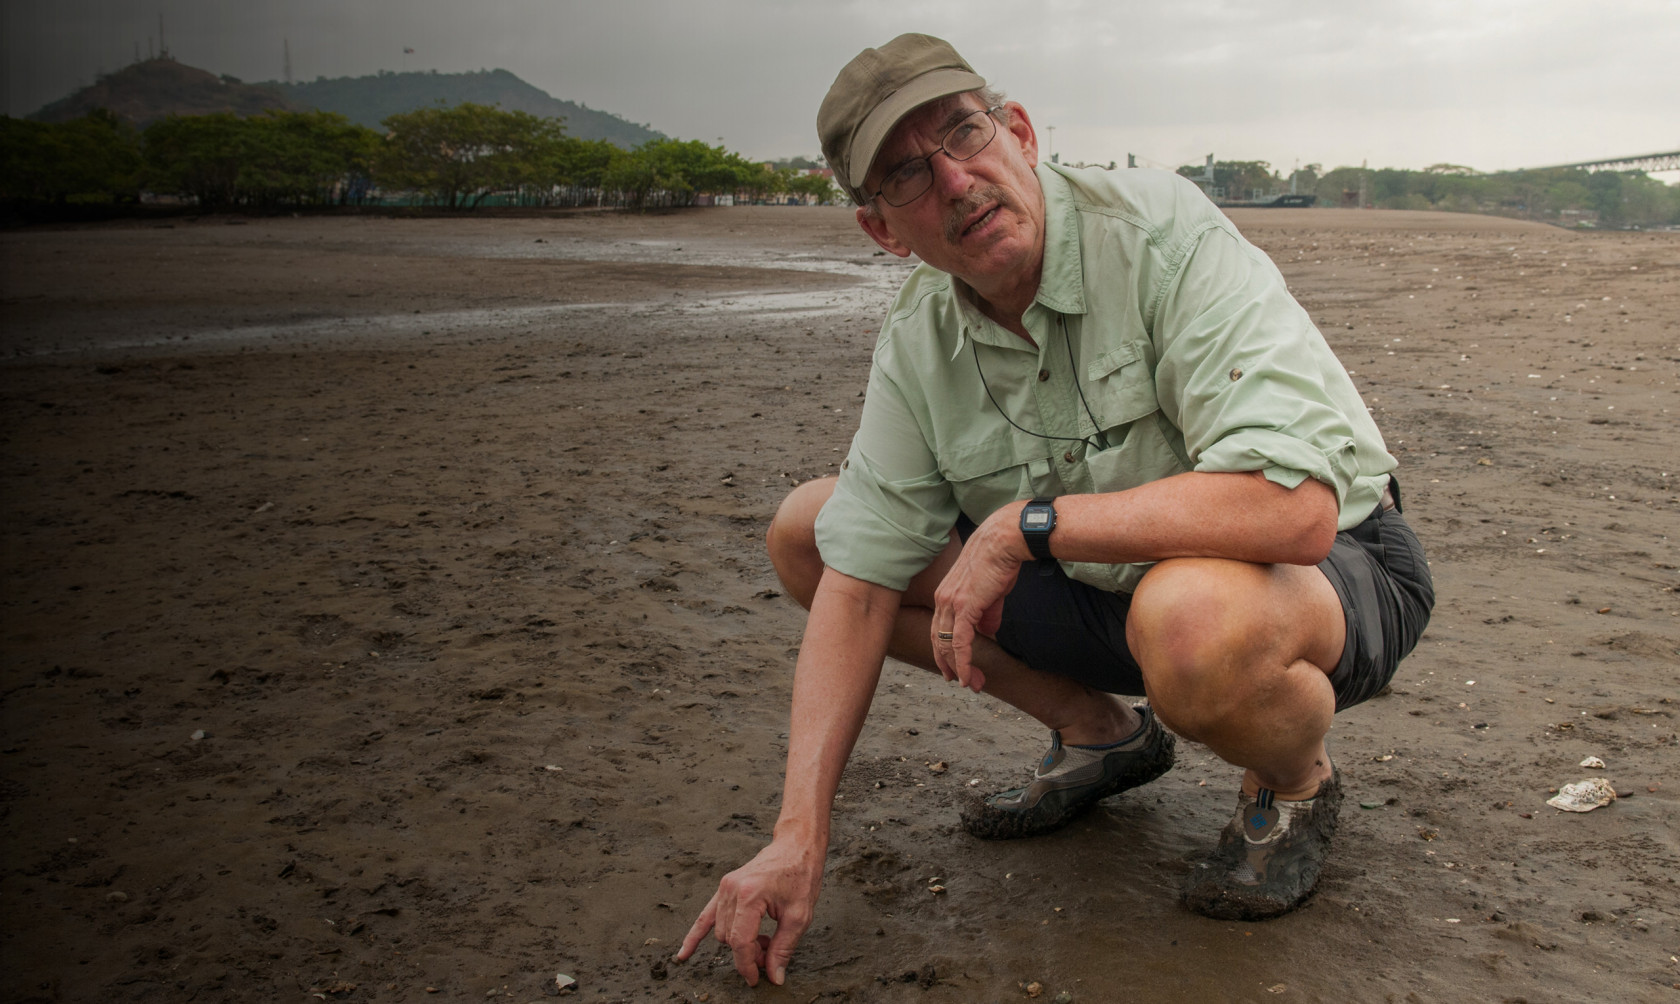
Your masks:
M 963 806 L 963 828 L 981 839 L 1038 836 L 1067 824 L 1090 806 L 1147 784 L 1173 767 L 1176 739 L 1161 727 L 1147 705 L 1137 705 L 1144 724 L 1114 745 L 1062 745 L 1050 734 L 1050 752 L 1026 787 L 1003 791 Z

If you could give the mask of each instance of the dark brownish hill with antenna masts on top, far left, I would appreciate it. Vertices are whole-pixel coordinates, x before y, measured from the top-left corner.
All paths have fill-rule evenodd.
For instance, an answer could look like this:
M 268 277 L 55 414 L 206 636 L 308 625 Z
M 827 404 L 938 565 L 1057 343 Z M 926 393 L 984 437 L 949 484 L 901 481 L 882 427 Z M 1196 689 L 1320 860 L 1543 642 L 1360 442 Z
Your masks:
M 37 123 L 67 123 L 102 107 L 144 129 L 163 116 L 218 111 L 254 116 L 269 109 L 299 111 L 274 87 L 244 84 L 168 57 L 129 64 L 69 97 L 34 112 Z

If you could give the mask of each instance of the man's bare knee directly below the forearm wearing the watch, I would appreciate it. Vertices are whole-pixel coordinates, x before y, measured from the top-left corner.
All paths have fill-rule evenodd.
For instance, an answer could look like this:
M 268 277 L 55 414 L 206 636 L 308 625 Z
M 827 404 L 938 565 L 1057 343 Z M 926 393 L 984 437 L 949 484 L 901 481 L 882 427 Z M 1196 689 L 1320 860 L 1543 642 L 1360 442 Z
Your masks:
M 1240 566 L 1240 567 L 1233 567 Z M 1184 557 L 1154 566 L 1132 594 L 1126 640 L 1149 703 L 1174 732 L 1206 735 L 1272 685 L 1277 628 L 1260 616 L 1245 578 L 1263 566 Z

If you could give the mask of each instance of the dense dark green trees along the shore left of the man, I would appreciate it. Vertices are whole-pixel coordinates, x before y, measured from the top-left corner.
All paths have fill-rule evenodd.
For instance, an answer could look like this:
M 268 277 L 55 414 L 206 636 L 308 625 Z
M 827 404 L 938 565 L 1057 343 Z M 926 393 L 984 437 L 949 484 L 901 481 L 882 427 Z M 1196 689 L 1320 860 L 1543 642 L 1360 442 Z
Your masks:
M 566 136 L 561 119 L 482 104 L 390 116 L 385 133 L 341 114 L 170 116 L 144 131 L 109 112 L 49 124 L 0 118 L 0 200 L 126 203 L 141 193 L 203 208 L 422 203 L 694 205 L 706 195 L 845 198 L 828 178 L 722 146 L 652 139 L 620 149 Z

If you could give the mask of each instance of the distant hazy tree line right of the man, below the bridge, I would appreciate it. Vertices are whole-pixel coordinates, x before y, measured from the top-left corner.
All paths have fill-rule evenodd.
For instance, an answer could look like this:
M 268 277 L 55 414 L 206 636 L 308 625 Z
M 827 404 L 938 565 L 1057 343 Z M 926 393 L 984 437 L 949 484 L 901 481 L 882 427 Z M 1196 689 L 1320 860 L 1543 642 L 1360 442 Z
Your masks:
M 1205 171 L 1205 165 L 1178 170 L 1186 178 L 1201 178 Z M 1596 220 L 1604 227 L 1680 225 L 1680 185 L 1663 185 L 1645 171 L 1547 168 L 1482 175 L 1463 165 L 1421 171 L 1324 171 L 1307 165 L 1285 178 L 1267 161 L 1215 161 L 1213 185 L 1226 198 L 1294 190 L 1317 195 L 1320 207 L 1497 213 L 1562 223 Z

